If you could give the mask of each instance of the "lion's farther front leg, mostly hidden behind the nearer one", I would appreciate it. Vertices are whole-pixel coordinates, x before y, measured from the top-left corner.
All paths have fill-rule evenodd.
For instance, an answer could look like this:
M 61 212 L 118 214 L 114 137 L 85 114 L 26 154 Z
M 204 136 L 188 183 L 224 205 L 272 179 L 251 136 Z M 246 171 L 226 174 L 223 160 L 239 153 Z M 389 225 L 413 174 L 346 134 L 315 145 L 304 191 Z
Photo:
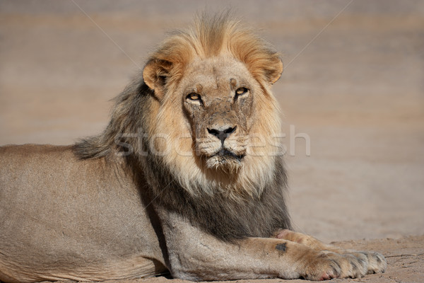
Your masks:
M 300 243 L 302 245 L 308 246 L 317 251 L 328 251 L 331 253 L 338 253 L 340 255 L 353 256 L 355 258 L 358 258 L 366 262 L 367 274 L 384 272 L 387 268 L 387 260 L 380 253 L 356 251 L 356 250 L 344 250 L 342 248 L 338 248 L 337 246 L 323 243 L 322 241 L 319 241 L 312 236 L 290 231 L 287 229 L 277 231 L 274 236 L 275 238 L 280 238 L 280 239 L 284 239 L 288 241 L 293 241 L 295 243 Z

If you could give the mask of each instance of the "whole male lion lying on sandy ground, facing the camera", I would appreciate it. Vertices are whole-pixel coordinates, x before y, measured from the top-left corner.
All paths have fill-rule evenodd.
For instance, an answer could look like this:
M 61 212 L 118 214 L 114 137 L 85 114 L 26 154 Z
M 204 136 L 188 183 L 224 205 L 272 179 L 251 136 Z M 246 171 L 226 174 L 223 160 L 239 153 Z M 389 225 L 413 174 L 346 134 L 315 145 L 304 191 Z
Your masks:
M 363 277 L 373 252 L 293 231 L 268 42 L 229 16 L 172 33 L 104 132 L 0 149 L 0 280 Z

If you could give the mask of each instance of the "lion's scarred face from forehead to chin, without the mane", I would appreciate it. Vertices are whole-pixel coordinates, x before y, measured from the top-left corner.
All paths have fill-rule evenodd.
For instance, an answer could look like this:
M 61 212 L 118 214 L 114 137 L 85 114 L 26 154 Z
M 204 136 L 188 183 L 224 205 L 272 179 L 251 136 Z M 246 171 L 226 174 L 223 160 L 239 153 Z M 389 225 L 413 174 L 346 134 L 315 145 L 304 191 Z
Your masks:
M 207 168 L 237 170 L 247 154 L 257 84 L 234 59 L 199 60 L 186 74 L 179 89 L 196 156 Z

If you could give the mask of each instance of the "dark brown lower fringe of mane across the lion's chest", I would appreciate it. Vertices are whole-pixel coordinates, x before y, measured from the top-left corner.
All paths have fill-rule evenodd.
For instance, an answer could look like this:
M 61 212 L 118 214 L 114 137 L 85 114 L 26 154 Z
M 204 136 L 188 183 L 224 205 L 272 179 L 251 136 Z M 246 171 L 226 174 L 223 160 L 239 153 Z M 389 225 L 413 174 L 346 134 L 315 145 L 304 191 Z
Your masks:
M 147 161 L 151 168 L 155 161 Z M 285 204 L 287 175 L 281 158 L 276 159 L 273 183 L 266 185 L 259 198 L 242 202 L 223 195 L 193 197 L 167 172 L 166 168 L 145 171 L 153 180 L 156 205 L 187 217 L 194 226 L 212 233 L 223 241 L 246 237 L 271 237 L 278 229 L 292 229 Z

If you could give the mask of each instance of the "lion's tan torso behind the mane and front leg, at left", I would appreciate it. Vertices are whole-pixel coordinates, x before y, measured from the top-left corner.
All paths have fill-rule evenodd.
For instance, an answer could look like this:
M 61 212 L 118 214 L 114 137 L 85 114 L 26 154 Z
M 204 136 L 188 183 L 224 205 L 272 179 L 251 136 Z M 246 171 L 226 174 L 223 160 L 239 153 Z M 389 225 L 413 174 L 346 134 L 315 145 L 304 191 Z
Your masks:
M 35 145 L 2 147 L 0 156 L 2 281 L 97 281 L 164 270 L 147 196 L 121 158 L 81 161 L 70 146 Z

